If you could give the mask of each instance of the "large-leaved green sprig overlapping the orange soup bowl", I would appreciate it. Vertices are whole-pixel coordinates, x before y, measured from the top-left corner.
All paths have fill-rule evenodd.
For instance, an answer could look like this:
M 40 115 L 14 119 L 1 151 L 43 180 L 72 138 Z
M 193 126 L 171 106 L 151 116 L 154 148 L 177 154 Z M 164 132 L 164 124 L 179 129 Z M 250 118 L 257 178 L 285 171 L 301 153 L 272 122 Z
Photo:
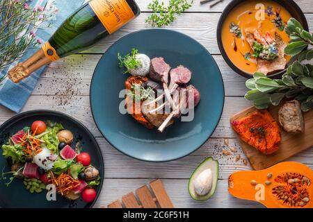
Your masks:
M 300 53 L 298 60 L 288 67 L 281 79 L 272 80 L 262 73 L 255 73 L 246 81 L 250 91 L 245 98 L 253 101 L 258 109 L 266 109 L 270 105 L 278 105 L 284 98 L 291 98 L 299 101 L 301 109 L 306 112 L 313 109 L 313 65 L 301 62 L 313 58 L 313 49 L 303 51 L 309 44 L 313 45 L 313 35 L 294 18 L 289 19 L 286 32 L 291 42 L 284 52 L 290 56 Z

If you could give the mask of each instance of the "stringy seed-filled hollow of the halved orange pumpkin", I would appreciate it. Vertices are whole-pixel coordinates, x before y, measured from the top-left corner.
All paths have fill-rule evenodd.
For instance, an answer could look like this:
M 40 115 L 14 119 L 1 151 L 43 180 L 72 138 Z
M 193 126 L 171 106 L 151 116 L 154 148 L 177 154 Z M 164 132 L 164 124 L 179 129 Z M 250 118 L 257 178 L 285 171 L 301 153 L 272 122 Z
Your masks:
M 300 173 L 284 173 L 275 178 L 272 194 L 285 205 L 304 207 L 312 198 L 307 191 L 310 183 L 310 179 Z

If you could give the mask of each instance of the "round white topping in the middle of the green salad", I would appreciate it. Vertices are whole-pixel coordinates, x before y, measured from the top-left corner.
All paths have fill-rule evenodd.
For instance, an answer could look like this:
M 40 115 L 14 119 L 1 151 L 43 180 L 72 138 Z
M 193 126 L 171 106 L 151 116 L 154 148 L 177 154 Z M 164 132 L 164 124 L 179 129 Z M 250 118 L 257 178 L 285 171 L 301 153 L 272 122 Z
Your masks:
M 46 171 L 49 171 L 54 167 L 54 162 L 58 156 L 52 153 L 48 148 L 42 148 L 42 151 L 33 157 L 33 162 L 38 167 L 42 167 Z

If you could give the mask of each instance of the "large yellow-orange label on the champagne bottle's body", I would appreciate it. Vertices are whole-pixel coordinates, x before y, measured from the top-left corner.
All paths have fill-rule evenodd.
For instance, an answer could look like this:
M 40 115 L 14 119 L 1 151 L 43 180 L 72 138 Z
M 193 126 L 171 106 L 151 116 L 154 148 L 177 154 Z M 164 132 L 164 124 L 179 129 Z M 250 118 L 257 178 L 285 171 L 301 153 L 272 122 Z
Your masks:
M 92 0 L 89 6 L 110 34 L 135 17 L 126 0 Z

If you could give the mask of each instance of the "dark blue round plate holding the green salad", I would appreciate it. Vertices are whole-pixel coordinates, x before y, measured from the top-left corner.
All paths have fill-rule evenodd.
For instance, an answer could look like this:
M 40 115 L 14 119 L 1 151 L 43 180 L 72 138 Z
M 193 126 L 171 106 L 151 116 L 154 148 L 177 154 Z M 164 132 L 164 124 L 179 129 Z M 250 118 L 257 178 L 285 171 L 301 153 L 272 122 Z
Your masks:
M 55 112 L 50 110 L 32 110 L 23 112 L 12 117 L 0 126 L 0 145 L 6 144 L 10 135 L 17 133 L 25 126 L 31 126 L 31 123 L 36 120 L 53 121 L 56 123 L 62 123 L 64 128 L 71 130 L 74 134 L 73 146 L 77 141 L 81 143 L 82 151 L 89 153 L 92 164 L 99 169 L 99 175 L 101 177 L 101 183 L 96 188 L 97 198 L 100 194 L 103 180 L 104 180 L 104 162 L 100 148 L 95 140 L 95 137 L 89 132 L 89 130 L 79 123 L 79 121 L 73 119 L 61 112 Z M 9 172 L 10 167 L 6 162 L 6 159 L 2 155 L 2 149 L 0 148 L 0 170 Z M 1 173 L 1 172 L 0 172 Z M 0 175 L 1 178 L 1 175 Z M 10 175 L 7 176 L 10 178 Z M 23 185 L 22 180 L 15 178 L 15 180 L 7 187 L 5 184 L 7 180 L 0 180 L 0 207 L 12 208 L 61 208 L 61 207 L 93 207 L 94 203 L 85 203 L 81 198 L 75 201 L 67 200 L 66 198 L 56 195 L 56 201 L 48 201 L 46 198 L 47 192 L 42 191 L 40 194 L 31 194 Z

